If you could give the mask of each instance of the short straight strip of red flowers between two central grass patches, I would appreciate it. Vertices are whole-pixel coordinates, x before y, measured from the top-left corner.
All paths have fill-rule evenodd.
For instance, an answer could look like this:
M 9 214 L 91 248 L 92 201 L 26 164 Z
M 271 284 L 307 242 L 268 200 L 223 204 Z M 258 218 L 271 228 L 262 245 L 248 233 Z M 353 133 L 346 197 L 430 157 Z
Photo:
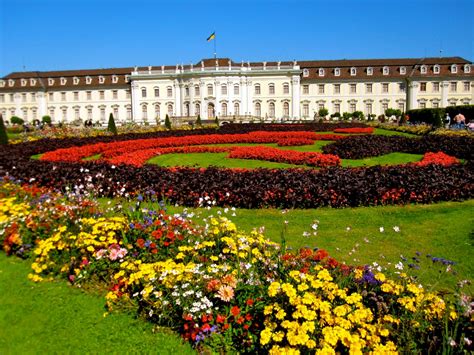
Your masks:
M 318 167 L 337 166 L 341 164 L 339 157 L 316 152 L 297 152 L 271 147 L 236 147 L 232 149 L 229 158 L 257 159 L 277 163 L 309 165 Z

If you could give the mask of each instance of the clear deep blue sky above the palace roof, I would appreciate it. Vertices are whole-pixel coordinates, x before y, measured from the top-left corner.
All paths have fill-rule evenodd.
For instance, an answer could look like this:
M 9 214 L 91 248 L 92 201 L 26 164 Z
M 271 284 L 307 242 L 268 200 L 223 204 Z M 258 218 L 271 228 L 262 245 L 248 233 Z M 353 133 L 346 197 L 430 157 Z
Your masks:
M 472 0 L 0 0 L 0 76 L 12 71 L 461 56 Z

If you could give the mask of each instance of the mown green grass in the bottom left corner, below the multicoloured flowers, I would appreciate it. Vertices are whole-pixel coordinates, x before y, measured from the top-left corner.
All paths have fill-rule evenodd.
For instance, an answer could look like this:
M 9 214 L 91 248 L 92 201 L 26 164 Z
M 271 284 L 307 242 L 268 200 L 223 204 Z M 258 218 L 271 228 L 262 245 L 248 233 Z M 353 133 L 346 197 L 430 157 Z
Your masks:
M 0 253 L 0 353 L 192 354 L 171 331 L 127 314 L 103 316 L 103 295 L 66 282 L 35 284 L 30 263 Z

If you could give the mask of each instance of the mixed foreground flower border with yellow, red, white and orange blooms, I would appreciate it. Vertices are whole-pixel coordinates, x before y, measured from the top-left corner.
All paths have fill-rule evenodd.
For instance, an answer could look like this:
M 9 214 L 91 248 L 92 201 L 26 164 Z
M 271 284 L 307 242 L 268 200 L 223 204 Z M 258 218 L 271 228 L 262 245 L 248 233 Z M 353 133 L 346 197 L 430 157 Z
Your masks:
M 323 250 L 285 252 L 223 217 L 202 227 L 140 205 L 97 217 L 93 201 L 11 183 L 0 185 L 0 202 L 0 242 L 33 258 L 30 279 L 101 285 L 109 312 L 172 325 L 198 349 L 436 352 L 454 342 L 472 351 L 468 296 L 443 299 L 406 275 L 340 264 Z M 70 211 L 67 223 L 56 218 Z

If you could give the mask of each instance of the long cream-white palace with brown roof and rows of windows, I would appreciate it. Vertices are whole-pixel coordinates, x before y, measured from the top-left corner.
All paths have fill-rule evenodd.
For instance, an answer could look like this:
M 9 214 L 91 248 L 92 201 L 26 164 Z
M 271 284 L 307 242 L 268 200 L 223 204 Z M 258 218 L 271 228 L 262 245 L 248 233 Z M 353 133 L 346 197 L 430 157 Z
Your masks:
M 387 108 L 474 103 L 474 69 L 460 57 L 241 62 L 14 72 L 0 79 L 0 113 L 27 122 L 291 121 Z

